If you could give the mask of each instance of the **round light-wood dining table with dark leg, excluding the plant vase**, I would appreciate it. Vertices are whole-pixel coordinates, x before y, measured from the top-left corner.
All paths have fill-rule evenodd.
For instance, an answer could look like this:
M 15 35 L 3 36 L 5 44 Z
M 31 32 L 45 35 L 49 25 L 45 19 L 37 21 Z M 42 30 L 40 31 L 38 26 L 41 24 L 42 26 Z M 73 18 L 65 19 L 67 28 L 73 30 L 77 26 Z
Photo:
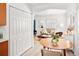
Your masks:
M 51 40 L 52 40 L 52 38 L 40 38 L 40 44 L 43 46 L 44 49 L 47 48 L 47 49 L 62 50 L 63 55 L 66 56 L 67 49 L 71 48 L 70 41 L 65 40 L 63 38 L 59 38 L 59 41 L 57 43 L 58 45 L 53 46 Z

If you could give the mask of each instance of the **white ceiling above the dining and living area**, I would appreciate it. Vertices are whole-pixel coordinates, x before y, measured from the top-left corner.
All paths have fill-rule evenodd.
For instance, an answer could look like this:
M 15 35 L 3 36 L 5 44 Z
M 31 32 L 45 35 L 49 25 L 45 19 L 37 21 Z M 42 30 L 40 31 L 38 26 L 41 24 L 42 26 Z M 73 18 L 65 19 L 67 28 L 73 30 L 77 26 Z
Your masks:
M 77 5 L 79 8 L 78 3 L 26 3 L 30 10 L 33 13 L 38 13 L 45 11 L 47 9 L 61 9 L 61 10 L 67 10 L 68 8 L 71 8 L 73 5 Z

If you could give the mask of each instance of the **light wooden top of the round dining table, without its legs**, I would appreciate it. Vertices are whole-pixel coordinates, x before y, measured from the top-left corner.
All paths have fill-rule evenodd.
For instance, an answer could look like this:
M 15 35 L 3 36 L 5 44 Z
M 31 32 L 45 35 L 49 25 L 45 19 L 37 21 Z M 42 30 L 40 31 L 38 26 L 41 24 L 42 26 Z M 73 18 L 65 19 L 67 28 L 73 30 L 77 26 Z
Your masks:
M 63 38 L 59 39 L 58 46 L 54 47 L 51 42 L 52 38 L 41 38 L 40 44 L 53 49 L 69 49 L 71 48 L 70 41 L 65 40 Z

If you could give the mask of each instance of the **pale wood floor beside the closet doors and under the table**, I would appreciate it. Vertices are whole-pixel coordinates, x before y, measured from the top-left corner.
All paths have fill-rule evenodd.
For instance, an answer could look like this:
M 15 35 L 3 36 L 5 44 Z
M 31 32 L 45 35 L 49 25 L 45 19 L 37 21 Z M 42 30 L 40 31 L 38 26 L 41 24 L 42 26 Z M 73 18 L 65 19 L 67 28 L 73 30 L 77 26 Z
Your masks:
M 34 39 L 34 47 L 26 51 L 23 56 L 41 56 L 41 48 L 39 41 Z M 72 51 L 67 51 L 67 56 L 74 56 Z

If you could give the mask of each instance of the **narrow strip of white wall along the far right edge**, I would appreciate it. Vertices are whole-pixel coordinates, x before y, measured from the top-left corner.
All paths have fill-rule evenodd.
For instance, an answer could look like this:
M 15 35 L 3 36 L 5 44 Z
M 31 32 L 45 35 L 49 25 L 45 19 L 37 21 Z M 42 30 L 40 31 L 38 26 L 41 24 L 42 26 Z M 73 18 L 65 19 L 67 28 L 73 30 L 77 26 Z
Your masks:
M 75 28 L 76 28 L 76 33 L 75 33 L 75 55 L 79 56 L 79 10 L 76 10 L 76 17 L 75 17 Z

